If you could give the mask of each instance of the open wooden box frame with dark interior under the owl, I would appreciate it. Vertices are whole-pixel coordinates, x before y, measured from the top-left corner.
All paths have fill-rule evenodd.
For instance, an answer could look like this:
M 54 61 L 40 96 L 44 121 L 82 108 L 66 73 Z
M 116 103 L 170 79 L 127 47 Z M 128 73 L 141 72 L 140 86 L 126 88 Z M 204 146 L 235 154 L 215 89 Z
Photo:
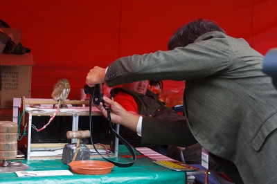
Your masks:
M 65 100 L 65 104 L 89 104 L 88 100 Z M 24 97 L 21 98 L 21 106 L 19 109 L 19 114 L 21 117 L 18 118 L 18 123 L 21 125 L 21 132 L 26 129 L 27 136 L 25 136 L 22 140 L 18 142 L 19 149 L 26 155 L 27 160 L 48 160 L 48 159 L 61 159 L 62 158 L 62 149 L 64 148 L 64 145 L 69 142 L 50 142 L 51 138 L 53 136 L 56 136 L 56 134 L 62 134 L 64 133 L 64 138 L 62 138 L 65 141 L 66 138 L 66 131 L 72 130 L 72 131 L 78 131 L 81 127 L 81 125 L 89 125 L 89 107 L 69 107 L 69 109 L 66 109 L 66 111 L 59 111 L 55 118 L 53 118 L 53 122 L 49 124 L 49 126 L 45 127 L 42 131 L 37 132 L 34 127 L 41 128 L 43 125 L 45 125 L 45 120 L 47 121 L 51 116 L 53 116 L 53 111 L 56 109 L 53 109 L 52 107 L 48 107 L 48 109 L 44 107 L 40 107 L 38 109 L 35 108 L 29 108 L 28 104 L 49 104 L 50 106 L 53 104 L 57 104 L 54 100 L 26 100 Z M 51 109 L 52 111 L 46 111 Z M 72 111 L 71 111 L 72 110 Z M 61 117 L 63 116 L 63 117 Z M 65 129 L 64 127 L 60 127 L 60 130 L 57 130 L 59 128 L 57 126 L 57 120 L 66 119 L 66 123 L 70 125 L 66 125 L 68 129 Z M 86 120 L 84 120 L 84 118 Z M 71 120 L 72 119 L 72 120 Z M 80 119 L 82 119 L 82 122 L 80 123 Z M 118 156 L 118 139 L 112 134 L 111 131 L 109 131 L 107 128 L 109 127 L 109 124 L 106 123 L 106 119 L 104 116 L 102 116 L 102 113 L 100 111 L 92 111 L 91 112 L 91 125 L 96 126 L 93 128 L 93 131 L 91 131 L 91 136 L 101 137 L 101 138 L 109 138 L 109 140 L 105 140 L 104 142 L 100 142 L 102 140 L 99 140 L 99 142 L 95 142 L 96 149 L 100 152 L 105 152 L 106 149 L 111 149 L 111 153 L 105 154 L 103 153 L 103 156 L 111 156 L 111 157 L 117 157 Z M 104 121 L 104 122 L 103 122 Z M 60 123 L 60 122 L 59 122 Z M 62 122 L 64 124 L 64 122 Z M 60 123 L 60 124 L 62 124 Z M 72 125 L 71 125 L 72 123 Z M 97 126 L 100 125 L 100 126 Z M 54 128 L 53 128 L 54 127 Z M 98 129 L 99 130 L 96 130 Z M 51 132 L 51 129 L 54 131 Z M 89 129 L 89 126 L 87 126 L 87 129 Z M 114 125 L 114 129 L 116 129 L 117 132 L 119 132 L 119 126 Z M 49 133 L 48 133 L 49 131 Z M 105 135 L 103 135 L 105 134 Z M 106 135 L 107 134 L 107 135 Z M 33 138 L 32 138 L 33 135 Z M 44 136 L 41 136 L 44 135 Z M 49 142 L 47 142 L 49 140 Z M 71 139 L 71 143 L 76 143 L 77 139 L 73 138 Z M 109 143 L 107 143 L 109 142 Z M 96 145 L 97 143 L 100 143 L 101 145 Z M 86 144 L 87 145 L 87 144 Z M 89 149 L 92 149 L 93 151 L 93 145 L 87 145 Z M 45 156 L 39 156 L 39 151 L 44 151 Z M 48 151 L 48 152 L 47 152 Z M 57 151 L 57 155 L 48 155 L 52 154 L 53 151 Z M 94 152 L 94 151 L 93 151 Z M 37 155 L 36 155 L 37 154 Z M 91 158 L 93 157 L 100 157 L 98 154 L 91 154 Z

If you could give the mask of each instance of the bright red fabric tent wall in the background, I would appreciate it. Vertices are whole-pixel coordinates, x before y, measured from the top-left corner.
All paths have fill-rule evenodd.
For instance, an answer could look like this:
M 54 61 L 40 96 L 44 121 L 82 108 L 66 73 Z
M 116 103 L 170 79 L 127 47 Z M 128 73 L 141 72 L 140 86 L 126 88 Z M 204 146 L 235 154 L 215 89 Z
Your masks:
M 1 1 L 0 19 L 20 28 L 35 60 L 32 98 L 51 98 L 60 78 L 78 98 L 93 66 L 118 57 L 167 50 L 172 33 L 193 19 L 216 21 L 265 55 L 277 47 L 276 0 L 11 0 Z M 164 89 L 183 82 L 164 82 Z

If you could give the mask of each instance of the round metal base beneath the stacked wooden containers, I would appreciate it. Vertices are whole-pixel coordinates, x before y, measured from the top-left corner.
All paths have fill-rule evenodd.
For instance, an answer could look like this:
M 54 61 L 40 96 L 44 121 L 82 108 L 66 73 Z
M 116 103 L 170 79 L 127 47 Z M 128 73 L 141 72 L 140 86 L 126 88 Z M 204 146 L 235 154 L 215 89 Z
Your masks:
M 0 173 L 19 172 L 29 168 L 28 165 L 21 163 L 20 161 L 10 162 L 6 159 L 2 160 L 0 165 Z

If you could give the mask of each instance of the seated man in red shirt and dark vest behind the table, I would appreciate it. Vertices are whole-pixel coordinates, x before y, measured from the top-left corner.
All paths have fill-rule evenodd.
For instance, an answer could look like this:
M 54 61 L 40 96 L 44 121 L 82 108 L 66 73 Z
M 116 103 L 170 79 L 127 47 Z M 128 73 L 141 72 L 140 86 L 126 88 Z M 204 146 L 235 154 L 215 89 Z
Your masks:
M 181 121 L 186 120 L 184 116 L 180 116 L 172 108 L 166 107 L 163 102 L 160 101 L 159 95 L 148 89 L 148 85 L 148 80 L 123 84 L 122 88 L 111 89 L 111 96 L 114 96 L 114 101 L 118 102 L 118 104 L 130 113 L 136 113 L 152 118 L 167 118 L 169 120 Z M 141 147 L 141 136 L 136 132 L 124 126 L 120 126 L 120 136 L 127 140 L 130 145 Z M 186 163 L 201 163 L 202 146 L 199 143 L 186 148 L 169 146 L 169 150 L 168 145 L 149 145 L 148 147 L 163 155 L 180 161 L 181 158 L 179 152 L 182 151 Z M 220 172 L 220 168 L 211 157 L 209 157 L 209 168 Z

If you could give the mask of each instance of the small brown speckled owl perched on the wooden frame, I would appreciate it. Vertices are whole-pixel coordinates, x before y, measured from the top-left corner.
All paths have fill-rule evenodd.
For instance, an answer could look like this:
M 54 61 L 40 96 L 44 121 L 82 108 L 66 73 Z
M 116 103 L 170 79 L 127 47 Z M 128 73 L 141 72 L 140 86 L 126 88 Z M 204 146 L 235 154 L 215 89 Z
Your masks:
M 52 98 L 53 100 L 58 101 L 57 108 L 67 108 L 64 104 L 64 100 L 69 96 L 70 85 L 69 80 L 60 79 L 55 86 L 53 86 Z M 55 107 L 55 104 L 53 105 Z

